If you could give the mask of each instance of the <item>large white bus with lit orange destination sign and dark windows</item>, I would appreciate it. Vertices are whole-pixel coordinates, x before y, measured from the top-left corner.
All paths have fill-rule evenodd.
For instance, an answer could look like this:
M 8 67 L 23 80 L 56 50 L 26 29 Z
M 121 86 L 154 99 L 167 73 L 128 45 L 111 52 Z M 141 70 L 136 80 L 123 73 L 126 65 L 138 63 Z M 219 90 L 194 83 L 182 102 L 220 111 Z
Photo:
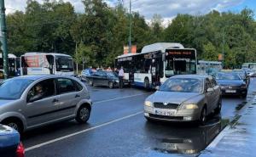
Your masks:
M 196 51 L 180 43 L 158 42 L 145 46 L 141 53 L 117 57 L 115 66 L 124 67 L 125 81 L 156 87 L 173 75 L 196 74 Z

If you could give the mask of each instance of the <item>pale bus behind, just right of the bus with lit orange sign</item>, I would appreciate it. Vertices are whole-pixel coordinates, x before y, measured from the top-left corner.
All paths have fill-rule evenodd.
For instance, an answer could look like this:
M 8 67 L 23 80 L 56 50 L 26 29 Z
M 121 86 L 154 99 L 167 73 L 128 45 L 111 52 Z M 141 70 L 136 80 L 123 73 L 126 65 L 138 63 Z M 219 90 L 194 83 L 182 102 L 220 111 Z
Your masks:
M 222 69 L 222 63 L 218 61 L 199 60 L 197 63 L 197 74 L 199 75 L 212 75 Z

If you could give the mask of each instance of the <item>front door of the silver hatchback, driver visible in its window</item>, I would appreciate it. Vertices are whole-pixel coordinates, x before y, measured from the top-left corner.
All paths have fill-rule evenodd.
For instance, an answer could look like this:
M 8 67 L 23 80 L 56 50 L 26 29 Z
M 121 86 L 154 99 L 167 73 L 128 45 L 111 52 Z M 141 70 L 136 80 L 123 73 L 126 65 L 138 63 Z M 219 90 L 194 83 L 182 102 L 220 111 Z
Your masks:
M 44 94 L 38 94 L 38 87 L 42 88 Z M 26 97 L 26 109 L 23 111 L 27 126 L 37 126 L 58 118 L 58 96 L 54 79 L 39 81 L 30 89 Z

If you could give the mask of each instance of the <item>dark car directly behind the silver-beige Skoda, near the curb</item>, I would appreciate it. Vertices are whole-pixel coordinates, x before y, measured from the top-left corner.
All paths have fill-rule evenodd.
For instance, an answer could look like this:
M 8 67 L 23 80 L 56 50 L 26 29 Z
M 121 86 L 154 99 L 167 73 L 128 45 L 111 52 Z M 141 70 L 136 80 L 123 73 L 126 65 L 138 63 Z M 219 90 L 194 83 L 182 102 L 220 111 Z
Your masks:
M 247 97 L 247 83 L 236 73 L 219 72 L 215 76 L 223 95 L 241 95 Z

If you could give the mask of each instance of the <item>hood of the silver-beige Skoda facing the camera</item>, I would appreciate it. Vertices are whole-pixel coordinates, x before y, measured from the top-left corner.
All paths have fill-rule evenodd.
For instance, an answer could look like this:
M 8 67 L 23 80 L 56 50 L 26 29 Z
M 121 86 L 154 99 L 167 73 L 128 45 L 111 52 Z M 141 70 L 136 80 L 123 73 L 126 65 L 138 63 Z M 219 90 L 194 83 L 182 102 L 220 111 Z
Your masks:
M 172 104 L 183 104 L 191 98 L 195 98 L 201 93 L 178 93 L 178 92 L 163 92 L 157 91 L 148 99 L 151 102 L 162 102 Z

